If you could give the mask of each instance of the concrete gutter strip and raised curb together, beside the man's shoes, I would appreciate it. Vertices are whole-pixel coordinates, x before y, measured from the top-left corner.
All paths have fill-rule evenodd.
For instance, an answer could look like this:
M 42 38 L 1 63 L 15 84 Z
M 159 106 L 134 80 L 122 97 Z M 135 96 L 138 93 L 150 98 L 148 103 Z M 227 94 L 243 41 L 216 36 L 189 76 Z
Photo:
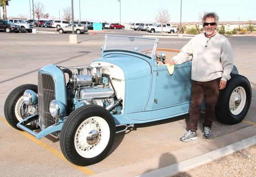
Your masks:
M 164 177 L 175 175 L 254 144 L 256 144 L 256 125 L 211 140 L 205 140 L 177 151 L 167 151 L 151 159 L 97 173 L 92 177 L 119 177 L 120 174 L 122 174 L 122 177 Z

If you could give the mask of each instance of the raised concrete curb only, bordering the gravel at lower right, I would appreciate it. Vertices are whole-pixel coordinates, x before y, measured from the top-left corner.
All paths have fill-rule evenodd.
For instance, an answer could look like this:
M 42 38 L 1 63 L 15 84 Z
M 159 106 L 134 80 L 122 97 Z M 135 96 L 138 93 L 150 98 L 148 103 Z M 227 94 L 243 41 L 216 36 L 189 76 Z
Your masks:
M 182 162 L 169 165 L 164 168 L 159 168 L 157 170 L 144 173 L 136 177 L 170 177 L 180 172 L 184 172 L 192 168 L 195 168 L 197 166 L 207 164 L 221 157 L 232 154 L 236 151 L 240 151 L 247 147 L 251 147 L 252 145 L 255 145 L 255 144 L 256 144 L 256 135 L 251 138 L 247 138 L 242 141 L 230 144 L 229 146 L 216 149 L 215 151 L 211 151 L 206 154 L 191 158 L 189 160 L 184 160 Z

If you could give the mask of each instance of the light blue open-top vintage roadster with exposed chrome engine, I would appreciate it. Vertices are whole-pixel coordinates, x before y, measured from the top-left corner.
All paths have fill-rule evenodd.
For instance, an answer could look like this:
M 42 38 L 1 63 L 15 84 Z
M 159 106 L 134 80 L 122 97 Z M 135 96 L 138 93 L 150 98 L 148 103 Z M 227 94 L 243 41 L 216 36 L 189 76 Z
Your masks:
M 71 163 L 97 163 L 110 151 L 115 133 L 189 112 L 191 61 L 175 65 L 170 74 L 166 65 L 157 65 L 157 59 L 165 59 L 159 52 L 171 59 L 179 51 L 157 48 L 157 43 L 106 35 L 100 59 L 78 67 L 44 66 L 38 86 L 18 86 L 9 94 L 4 115 L 13 128 L 37 139 L 59 136 L 62 153 Z M 249 81 L 234 66 L 220 92 L 216 118 L 229 125 L 241 122 L 251 98 Z M 40 131 L 33 131 L 38 127 Z

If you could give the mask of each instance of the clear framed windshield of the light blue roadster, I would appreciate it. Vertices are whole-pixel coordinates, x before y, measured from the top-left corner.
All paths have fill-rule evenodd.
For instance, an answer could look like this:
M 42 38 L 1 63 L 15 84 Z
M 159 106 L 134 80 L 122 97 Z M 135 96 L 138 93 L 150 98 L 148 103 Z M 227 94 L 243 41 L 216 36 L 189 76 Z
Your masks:
M 155 55 L 157 43 L 158 39 L 155 38 L 106 35 L 103 51 L 124 50 L 143 53 L 152 58 Z

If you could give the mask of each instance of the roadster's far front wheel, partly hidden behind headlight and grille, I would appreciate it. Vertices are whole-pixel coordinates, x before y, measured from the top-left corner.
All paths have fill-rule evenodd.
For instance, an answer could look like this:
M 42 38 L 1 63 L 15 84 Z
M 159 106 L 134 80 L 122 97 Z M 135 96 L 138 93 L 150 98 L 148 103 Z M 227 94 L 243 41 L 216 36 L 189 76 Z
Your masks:
M 25 84 L 22 86 L 18 86 L 13 91 L 11 91 L 4 103 L 4 116 L 7 122 L 14 129 L 17 130 L 20 130 L 17 127 L 18 122 L 29 116 L 26 104 L 23 101 L 23 93 L 26 90 L 31 90 L 37 93 L 37 86 L 34 84 Z M 33 123 L 26 126 L 32 130 L 36 129 L 36 125 L 34 125 Z

